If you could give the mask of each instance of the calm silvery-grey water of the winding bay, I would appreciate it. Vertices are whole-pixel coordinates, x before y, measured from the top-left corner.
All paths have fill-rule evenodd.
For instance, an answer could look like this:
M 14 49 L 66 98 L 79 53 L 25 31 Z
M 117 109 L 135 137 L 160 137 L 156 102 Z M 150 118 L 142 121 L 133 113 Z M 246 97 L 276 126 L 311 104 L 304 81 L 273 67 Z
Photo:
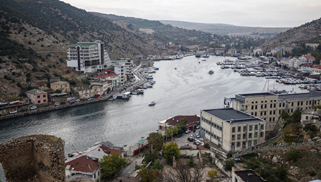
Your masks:
M 232 69 L 220 69 L 218 61 L 235 59 L 211 56 L 207 61 L 194 56 L 157 61 L 153 88 L 129 101 L 105 101 L 69 109 L 0 121 L 0 142 L 30 134 L 50 134 L 65 140 L 65 155 L 102 140 L 116 146 L 136 141 L 156 131 L 157 122 L 176 115 L 200 115 L 201 109 L 223 107 L 224 97 L 237 93 L 262 92 L 265 78 L 240 76 Z M 198 63 L 198 62 L 201 63 Z M 174 68 L 177 67 L 177 70 Z M 213 75 L 207 72 L 212 69 Z M 270 88 L 273 88 L 270 81 Z M 293 85 L 274 84 L 276 89 L 307 92 Z M 148 106 L 150 101 L 156 105 Z M 0 166 L 1 167 L 1 166 Z M 4 180 L 0 170 L 0 179 Z

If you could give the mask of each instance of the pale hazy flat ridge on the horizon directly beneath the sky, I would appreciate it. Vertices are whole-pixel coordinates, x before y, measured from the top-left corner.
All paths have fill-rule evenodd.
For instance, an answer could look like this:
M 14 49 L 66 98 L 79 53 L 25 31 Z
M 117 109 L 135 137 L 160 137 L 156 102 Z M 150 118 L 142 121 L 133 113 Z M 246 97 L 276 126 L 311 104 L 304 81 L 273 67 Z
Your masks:
M 204 24 L 204 23 L 192 23 L 183 21 L 169 21 L 160 20 L 163 24 L 169 24 L 176 27 L 185 29 L 195 29 L 213 34 L 228 34 L 228 33 L 249 33 L 249 32 L 272 32 L 280 33 L 290 28 L 266 28 L 266 27 L 243 27 L 229 24 Z

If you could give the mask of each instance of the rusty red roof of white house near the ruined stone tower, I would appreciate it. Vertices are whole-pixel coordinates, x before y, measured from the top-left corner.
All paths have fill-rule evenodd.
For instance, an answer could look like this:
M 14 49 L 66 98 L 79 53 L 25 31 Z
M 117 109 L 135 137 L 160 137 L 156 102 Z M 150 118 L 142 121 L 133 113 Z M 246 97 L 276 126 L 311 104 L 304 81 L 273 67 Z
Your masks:
M 82 155 L 65 163 L 65 167 L 67 167 L 67 165 L 70 165 L 70 167 L 67 169 L 71 170 L 74 165 L 76 165 L 73 170 L 82 172 L 94 172 L 99 167 L 98 159 L 94 159 L 95 160 L 93 160 L 91 157 L 88 157 L 87 155 Z

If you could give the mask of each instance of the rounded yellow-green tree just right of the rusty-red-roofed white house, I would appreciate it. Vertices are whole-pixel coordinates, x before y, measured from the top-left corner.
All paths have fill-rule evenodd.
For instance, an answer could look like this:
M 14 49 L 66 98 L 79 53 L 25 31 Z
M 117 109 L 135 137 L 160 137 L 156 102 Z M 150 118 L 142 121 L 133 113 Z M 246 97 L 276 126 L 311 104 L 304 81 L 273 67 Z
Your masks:
M 117 174 L 117 172 L 127 164 L 126 160 L 122 158 L 119 153 L 104 155 L 103 159 L 99 161 L 99 163 L 104 177 Z

